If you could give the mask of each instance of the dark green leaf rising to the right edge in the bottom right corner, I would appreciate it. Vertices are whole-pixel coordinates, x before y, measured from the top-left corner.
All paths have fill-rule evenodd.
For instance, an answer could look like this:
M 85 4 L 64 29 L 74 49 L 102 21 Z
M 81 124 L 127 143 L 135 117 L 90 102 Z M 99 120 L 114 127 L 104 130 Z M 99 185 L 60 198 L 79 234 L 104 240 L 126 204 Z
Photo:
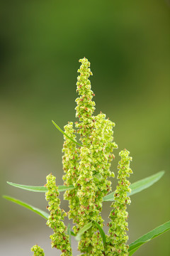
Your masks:
M 150 240 L 157 238 L 158 235 L 162 235 L 166 231 L 170 230 L 170 220 L 149 233 L 142 235 L 141 238 L 132 242 L 129 247 L 129 256 L 133 255 L 133 253 L 140 248 L 141 245 L 145 244 L 145 242 L 149 242 Z

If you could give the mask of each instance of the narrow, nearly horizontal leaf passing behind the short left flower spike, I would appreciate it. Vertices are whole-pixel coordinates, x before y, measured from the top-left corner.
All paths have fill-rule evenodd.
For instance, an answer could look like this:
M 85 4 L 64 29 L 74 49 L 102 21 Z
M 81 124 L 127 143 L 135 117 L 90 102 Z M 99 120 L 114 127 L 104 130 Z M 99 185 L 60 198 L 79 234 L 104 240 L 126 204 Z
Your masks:
M 33 192 L 47 192 L 47 188 L 45 188 L 45 186 L 27 186 L 27 185 L 21 185 L 21 184 L 16 184 L 16 183 L 12 183 L 7 181 L 7 183 L 11 186 L 15 186 L 16 188 L 22 188 L 25 189 L 27 191 L 33 191 Z M 67 191 L 69 189 L 73 189 L 74 186 L 73 185 L 69 185 L 69 186 L 58 186 L 58 190 L 61 191 Z

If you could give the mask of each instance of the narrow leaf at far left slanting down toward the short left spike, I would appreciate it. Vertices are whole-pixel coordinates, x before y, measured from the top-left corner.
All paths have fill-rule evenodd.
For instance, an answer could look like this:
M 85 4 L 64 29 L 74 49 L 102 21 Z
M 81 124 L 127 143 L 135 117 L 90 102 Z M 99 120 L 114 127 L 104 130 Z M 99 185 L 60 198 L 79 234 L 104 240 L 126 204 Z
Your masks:
M 25 208 L 28 208 L 29 210 L 32 210 L 34 213 L 39 214 L 42 218 L 45 218 L 45 220 L 47 220 L 47 218 L 49 216 L 49 214 L 46 213 L 44 210 L 40 210 L 34 206 L 30 206 L 30 205 L 28 205 L 28 203 L 24 203 L 16 198 L 12 198 L 11 196 L 3 196 L 3 198 L 5 198 L 6 200 L 11 201 L 13 203 L 17 203 L 18 205 L 23 206 Z

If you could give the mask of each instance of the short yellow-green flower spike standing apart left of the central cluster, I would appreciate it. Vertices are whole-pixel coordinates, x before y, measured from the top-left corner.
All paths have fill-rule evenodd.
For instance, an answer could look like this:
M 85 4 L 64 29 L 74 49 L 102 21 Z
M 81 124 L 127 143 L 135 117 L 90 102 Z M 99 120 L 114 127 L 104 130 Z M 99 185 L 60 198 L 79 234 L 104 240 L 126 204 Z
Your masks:
M 60 199 L 58 198 L 59 192 L 55 184 L 55 176 L 49 174 L 45 186 L 48 190 L 47 193 L 45 193 L 45 198 L 49 201 L 47 208 L 50 210 L 47 225 L 54 231 L 53 235 L 50 235 L 52 247 L 61 250 L 61 256 L 72 256 L 72 248 L 69 242 L 69 235 L 67 235 L 67 227 L 62 222 L 67 214 L 64 210 L 60 209 Z

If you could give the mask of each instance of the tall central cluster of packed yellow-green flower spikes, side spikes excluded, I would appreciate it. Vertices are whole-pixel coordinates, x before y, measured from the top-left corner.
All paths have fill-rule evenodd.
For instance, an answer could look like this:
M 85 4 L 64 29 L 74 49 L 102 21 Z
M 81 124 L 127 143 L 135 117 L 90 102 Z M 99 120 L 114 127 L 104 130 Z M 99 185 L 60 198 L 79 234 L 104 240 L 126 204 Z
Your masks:
M 69 199 L 69 218 L 73 218 L 74 233 L 84 227 L 91 220 L 95 220 L 103 227 L 101 218 L 103 196 L 111 191 L 110 166 L 114 158 L 113 149 L 117 147 L 113 142 L 113 127 L 115 124 L 103 113 L 94 116 L 95 103 L 92 101 L 94 92 L 91 90 L 91 82 L 88 79 L 92 75 L 89 61 L 84 58 L 79 60 L 81 67 L 77 81 L 77 114 L 79 122 L 76 122 L 77 133 L 80 134 L 82 146 L 64 137 L 63 168 L 67 174 L 64 176 L 64 184 L 74 185 L 73 191 L 67 191 L 64 198 Z M 72 123 L 64 127 L 66 134 L 74 139 L 75 134 Z M 101 255 L 103 242 L 101 236 L 96 233 L 96 225 L 87 230 L 81 236 L 79 250 L 88 252 L 88 255 Z

